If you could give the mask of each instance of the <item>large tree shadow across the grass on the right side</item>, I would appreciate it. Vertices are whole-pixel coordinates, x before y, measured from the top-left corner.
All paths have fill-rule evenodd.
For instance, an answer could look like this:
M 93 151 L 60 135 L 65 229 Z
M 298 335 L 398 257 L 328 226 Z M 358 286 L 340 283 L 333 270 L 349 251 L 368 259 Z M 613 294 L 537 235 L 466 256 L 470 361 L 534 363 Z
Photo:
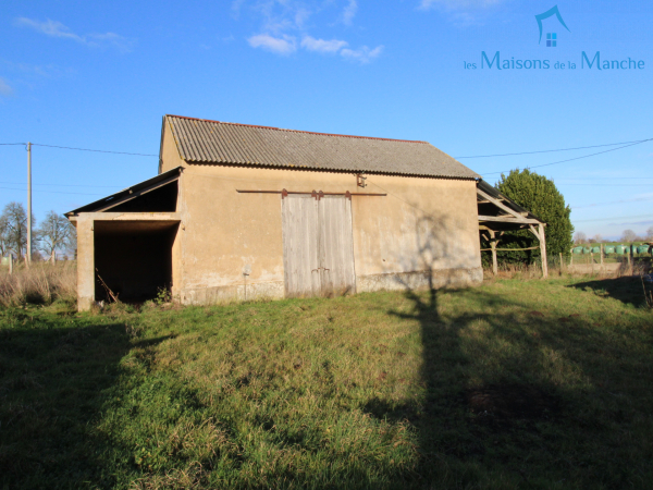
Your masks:
M 390 311 L 420 323 L 424 396 L 366 407 L 416 430 L 417 464 L 395 487 L 645 488 L 652 356 L 615 341 L 628 327 L 600 330 L 479 290 L 446 294 L 481 311 L 443 317 L 441 294 L 408 291 L 414 310 Z

